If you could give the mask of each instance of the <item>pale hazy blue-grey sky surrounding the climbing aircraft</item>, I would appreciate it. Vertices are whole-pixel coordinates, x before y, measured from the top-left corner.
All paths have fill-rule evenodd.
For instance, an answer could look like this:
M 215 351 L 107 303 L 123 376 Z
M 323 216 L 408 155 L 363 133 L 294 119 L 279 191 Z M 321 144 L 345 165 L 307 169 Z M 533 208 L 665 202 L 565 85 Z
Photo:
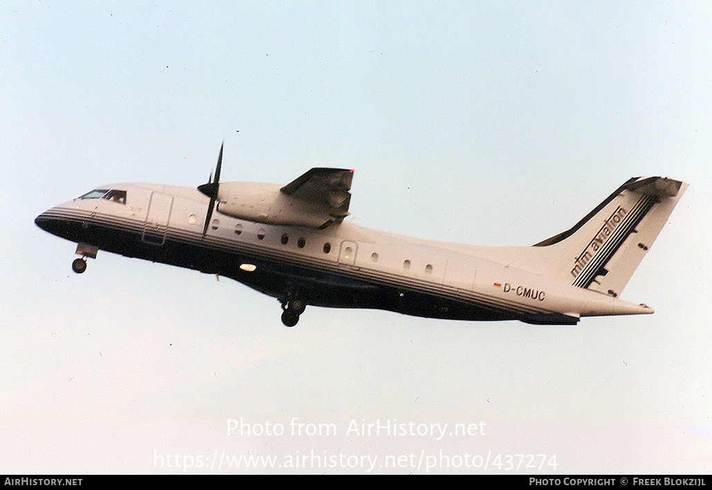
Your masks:
M 703 1 L 3 2 L 0 473 L 312 450 L 708 473 L 711 26 Z M 195 187 L 222 140 L 224 181 L 354 168 L 355 223 L 467 244 L 533 244 L 632 176 L 691 185 L 622 294 L 656 313 L 575 327 L 308 308 L 284 328 L 229 279 L 101 251 L 76 275 L 33 224 L 100 184 Z M 285 434 L 229 434 L 241 417 Z M 393 419 L 448 434 L 348 430 Z M 188 472 L 368 470 L 349 461 Z

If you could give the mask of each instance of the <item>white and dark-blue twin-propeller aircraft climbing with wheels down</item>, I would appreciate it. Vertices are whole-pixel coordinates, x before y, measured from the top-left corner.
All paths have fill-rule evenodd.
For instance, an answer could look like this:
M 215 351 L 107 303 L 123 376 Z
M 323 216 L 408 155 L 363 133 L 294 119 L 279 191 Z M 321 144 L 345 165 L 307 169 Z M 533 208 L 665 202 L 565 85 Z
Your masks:
M 77 242 L 77 273 L 104 250 L 233 278 L 277 298 L 287 326 L 306 306 L 575 325 L 653 313 L 619 294 L 688 185 L 632 178 L 567 231 L 533 246 L 486 247 L 344 221 L 353 170 L 313 168 L 286 185 L 220 182 L 222 155 L 221 147 L 214 177 L 197 189 L 103 185 L 35 223 Z

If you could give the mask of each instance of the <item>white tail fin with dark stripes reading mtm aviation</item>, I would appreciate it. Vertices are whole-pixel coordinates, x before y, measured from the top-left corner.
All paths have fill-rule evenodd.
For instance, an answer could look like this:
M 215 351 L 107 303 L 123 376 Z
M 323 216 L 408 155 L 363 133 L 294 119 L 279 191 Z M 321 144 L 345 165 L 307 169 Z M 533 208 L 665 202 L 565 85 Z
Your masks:
M 571 229 L 535 244 L 542 273 L 618 296 L 687 188 L 664 177 L 633 178 Z M 536 249 L 530 249 L 534 252 Z

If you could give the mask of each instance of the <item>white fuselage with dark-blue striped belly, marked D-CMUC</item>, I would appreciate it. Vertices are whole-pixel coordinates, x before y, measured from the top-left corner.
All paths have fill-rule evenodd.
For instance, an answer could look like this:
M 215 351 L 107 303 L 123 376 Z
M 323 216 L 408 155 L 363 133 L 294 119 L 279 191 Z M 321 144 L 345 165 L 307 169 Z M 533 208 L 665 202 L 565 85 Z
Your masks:
M 220 273 L 278 298 L 299 291 L 317 306 L 530 323 L 652 313 L 646 306 L 509 266 L 498 261 L 507 256 L 503 249 L 412 239 L 345 221 L 325 229 L 264 224 L 222 214 L 220 204 L 203 236 L 209 199 L 195 189 L 154 184 L 101 189 L 125 190 L 127 199 L 73 199 L 36 222 L 78 243 Z M 326 291 L 330 287 L 333 293 Z M 345 297 L 352 291 L 353 302 Z M 437 311 L 429 314 L 429 308 Z

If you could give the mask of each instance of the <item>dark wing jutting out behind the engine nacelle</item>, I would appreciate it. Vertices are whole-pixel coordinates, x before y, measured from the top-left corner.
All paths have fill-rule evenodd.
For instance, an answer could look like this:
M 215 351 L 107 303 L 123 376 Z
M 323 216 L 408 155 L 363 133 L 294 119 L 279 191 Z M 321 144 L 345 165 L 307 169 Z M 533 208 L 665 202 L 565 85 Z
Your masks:
M 309 204 L 328 209 L 334 218 L 349 214 L 353 170 L 313 168 L 280 189 L 281 192 Z

